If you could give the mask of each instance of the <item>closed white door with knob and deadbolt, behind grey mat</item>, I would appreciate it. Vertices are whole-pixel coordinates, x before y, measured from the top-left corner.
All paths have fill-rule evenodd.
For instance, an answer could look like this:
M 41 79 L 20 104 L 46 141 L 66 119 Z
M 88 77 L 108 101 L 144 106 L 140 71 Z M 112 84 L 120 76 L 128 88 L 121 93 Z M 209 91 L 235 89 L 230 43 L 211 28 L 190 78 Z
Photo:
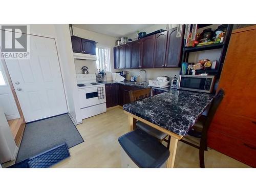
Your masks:
M 6 59 L 26 122 L 67 113 L 55 40 L 30 35 L 30 59 Z

